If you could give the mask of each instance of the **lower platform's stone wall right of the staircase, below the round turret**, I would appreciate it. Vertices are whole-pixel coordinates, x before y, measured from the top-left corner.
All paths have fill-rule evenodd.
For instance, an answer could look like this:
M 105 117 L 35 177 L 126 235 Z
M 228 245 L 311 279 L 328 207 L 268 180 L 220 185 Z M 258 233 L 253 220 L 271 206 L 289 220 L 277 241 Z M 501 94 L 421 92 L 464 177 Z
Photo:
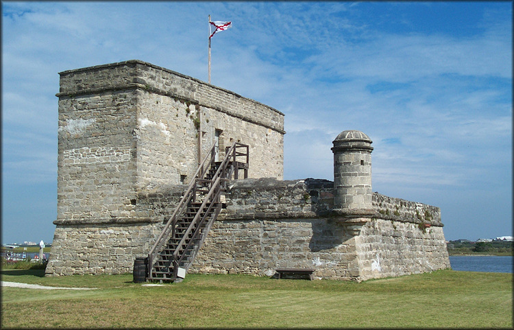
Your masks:
M 363 281 L 450 268 L 439 208 L 373 195 L 374 215 L 356 224 L 331 212 L 328 180 L 233 182 L 189 272 L 315 268 L 319 278 Z M 387 209 L 397 214 L 382 217 Z

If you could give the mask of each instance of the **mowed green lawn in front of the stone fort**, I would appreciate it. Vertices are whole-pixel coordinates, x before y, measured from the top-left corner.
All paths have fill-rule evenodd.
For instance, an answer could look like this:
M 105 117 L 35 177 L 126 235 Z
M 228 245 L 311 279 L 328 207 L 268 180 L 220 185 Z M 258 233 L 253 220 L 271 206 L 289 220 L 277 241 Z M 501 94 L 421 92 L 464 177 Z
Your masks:
M 441 270 L 363 283 L 189 274 L 144 287 L 132 274 L 3 270 L 2 280 L 98 288 L 2 287 L 2 328 L 513 327 L 513 279 L 505 273 Z

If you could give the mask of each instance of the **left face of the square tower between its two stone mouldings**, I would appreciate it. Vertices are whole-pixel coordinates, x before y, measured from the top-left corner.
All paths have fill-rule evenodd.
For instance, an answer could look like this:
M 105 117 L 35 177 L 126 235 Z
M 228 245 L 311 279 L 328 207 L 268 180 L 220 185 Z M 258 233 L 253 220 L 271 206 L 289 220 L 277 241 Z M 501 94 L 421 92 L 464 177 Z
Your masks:
M 58 222 L 133 216 L 136 97 L 60 97 Z

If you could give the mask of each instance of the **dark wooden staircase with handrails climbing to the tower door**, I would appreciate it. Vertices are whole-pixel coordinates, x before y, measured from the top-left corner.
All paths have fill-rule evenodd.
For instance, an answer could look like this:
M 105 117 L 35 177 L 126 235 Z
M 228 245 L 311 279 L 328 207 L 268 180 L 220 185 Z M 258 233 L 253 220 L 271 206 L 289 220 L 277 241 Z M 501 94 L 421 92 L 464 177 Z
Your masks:
M 221 211 L 226 182 L 248 177 L 248 145 L 234 143 L 223 161 L 215 161 L 215 144 L 201 162 L 186 193 L 164 225 L 147 260 L 147 281 L 182 281 Z

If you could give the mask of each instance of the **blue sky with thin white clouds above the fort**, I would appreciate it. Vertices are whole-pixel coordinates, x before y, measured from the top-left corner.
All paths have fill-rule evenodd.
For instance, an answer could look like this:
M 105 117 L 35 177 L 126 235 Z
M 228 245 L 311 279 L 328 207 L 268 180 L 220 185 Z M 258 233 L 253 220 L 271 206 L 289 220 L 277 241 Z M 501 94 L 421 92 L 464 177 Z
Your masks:
M 512 4 L 2 2 L 2 241 L 53 239 L 58 72 L 138 59 L 285 114 L 284 178 L 333 180 L 374 141 L 373 190 L 441 208 L 446 239 L 512 235 Z

